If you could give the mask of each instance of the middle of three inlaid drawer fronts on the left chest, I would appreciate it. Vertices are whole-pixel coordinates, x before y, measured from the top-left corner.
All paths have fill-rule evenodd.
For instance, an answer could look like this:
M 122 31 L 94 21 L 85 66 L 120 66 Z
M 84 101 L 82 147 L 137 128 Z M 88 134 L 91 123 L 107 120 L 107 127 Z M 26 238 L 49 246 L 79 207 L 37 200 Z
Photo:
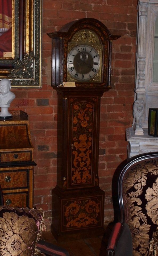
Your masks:
M 27 171 L 6 171 L 0 173 L 2 189 L 27 187 Z

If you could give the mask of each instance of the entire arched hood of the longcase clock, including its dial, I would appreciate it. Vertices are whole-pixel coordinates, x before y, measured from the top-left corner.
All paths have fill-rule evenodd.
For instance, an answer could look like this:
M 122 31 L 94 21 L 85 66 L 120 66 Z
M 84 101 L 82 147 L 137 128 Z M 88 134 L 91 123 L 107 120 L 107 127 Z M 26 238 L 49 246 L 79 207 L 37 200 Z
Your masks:
M 120 36 L 111 35 L 93 18 L 67 23 L 48 36 L 52 38 L 52 86 L 74 82 L 80 88 L 110 89 L 112 41 Z

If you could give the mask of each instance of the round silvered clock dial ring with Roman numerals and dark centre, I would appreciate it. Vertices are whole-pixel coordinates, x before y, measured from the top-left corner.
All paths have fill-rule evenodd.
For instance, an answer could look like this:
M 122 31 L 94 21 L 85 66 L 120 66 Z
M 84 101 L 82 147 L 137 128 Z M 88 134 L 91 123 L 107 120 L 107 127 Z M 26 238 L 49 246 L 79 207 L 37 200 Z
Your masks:
M 89 45 L 77 45 L 68 54 L 67 69 L 77 81 L 89 81 L 99 71 L 100 57 Z

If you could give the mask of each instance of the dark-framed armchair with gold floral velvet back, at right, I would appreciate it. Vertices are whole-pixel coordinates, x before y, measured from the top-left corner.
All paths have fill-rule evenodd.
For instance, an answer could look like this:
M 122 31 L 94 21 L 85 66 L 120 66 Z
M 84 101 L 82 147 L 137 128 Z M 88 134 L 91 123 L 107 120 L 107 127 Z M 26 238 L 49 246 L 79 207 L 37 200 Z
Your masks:
M 107 256 L 158 255 L 158 152 L 131 158 L 118 180 L 120 218 Z

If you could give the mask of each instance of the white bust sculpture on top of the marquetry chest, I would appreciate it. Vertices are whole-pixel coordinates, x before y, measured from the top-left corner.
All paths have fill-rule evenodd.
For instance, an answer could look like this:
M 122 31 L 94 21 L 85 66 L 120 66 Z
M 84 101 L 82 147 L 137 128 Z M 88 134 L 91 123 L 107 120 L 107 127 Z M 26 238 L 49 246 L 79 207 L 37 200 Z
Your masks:
M 0 81 L 0 118 L 10 118 L 11 114 L 8 112 L 10 103 L 15 99 L 15 94 L 10 91 L 11 82 L 9 79 L 2 79 Z

